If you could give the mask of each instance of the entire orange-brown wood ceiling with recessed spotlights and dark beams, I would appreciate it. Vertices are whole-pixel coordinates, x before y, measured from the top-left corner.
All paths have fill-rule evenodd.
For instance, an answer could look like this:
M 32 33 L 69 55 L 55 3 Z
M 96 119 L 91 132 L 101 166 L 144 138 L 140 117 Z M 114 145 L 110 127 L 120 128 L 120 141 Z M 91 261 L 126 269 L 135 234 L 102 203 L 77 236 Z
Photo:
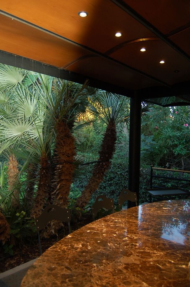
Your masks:
M 41 65 L 53 76 L 58 68 L 67 79 L 127 96 L 171 96 L 185 82 L 187 96 L 189 12 L 189 0 L 1 1 L 0 62 L 37 72 Z

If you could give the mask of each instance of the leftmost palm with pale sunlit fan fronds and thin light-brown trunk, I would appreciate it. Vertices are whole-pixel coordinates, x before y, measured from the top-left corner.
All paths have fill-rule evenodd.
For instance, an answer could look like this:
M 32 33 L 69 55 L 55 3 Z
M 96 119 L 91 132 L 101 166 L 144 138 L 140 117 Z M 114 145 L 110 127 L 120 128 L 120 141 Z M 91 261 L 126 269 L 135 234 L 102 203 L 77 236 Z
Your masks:
M 11 202 L 13 206 L 19 206 L 18 190 L 18 162 L 14 152 L 11 153 L 10 146 L 16 141 L 21 141 L 29 130 L 33 128 L 26 119 L 27 107 L 23 117 L 17 112 L 18 105 L 15 102 L 15 91 L 20 89 L 20 85 L 26 79 L 27 71 L 16 67 L 0 65 L 0 152 L 8 152 L 8 184 L 12 191 Z

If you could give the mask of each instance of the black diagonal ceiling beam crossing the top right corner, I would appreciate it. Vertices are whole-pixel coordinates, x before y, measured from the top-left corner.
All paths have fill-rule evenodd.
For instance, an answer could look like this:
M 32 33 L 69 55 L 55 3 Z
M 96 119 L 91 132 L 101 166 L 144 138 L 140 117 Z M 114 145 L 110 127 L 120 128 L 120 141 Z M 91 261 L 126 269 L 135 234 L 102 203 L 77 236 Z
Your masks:
M 175 51 L 181 54 L 185 59 L 190 61 L 190 56 L 184 52 L 179 46 L 177 46 L 174 42 L 166 37 L 162 32 L 160 32 L 156 27 L 154 27 L 150 22 L 148 22 L 145 18 L 143 18 L 140 14 L 138 14 L 135 10 L 133 10 L 129 5 L 127 5 L 123 0 L 110 0 L 122 10 L 124 10 L 127 14 L 132 16 L 135 20 L 157 35 L 161 40 L 163 40 L 166 44 L 171 46 Z

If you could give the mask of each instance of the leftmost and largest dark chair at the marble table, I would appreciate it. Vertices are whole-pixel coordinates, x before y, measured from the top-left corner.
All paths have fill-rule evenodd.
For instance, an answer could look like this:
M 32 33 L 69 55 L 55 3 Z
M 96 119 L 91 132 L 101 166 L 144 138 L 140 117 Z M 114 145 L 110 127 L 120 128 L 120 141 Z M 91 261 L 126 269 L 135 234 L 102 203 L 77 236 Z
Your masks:
M 39 231 L 46 226 L 49 221 L 59 220 L 61 222 L 68 222 L 69 233 L 70 233 L 70 209 L 61 208 L 55 204 L 49 204 L 44 208 L 43 212 L 40 216 L 35 218 L 36 221 L 36 229 L 38 233 L 38 241 L 40 246 L 40 255 L 42 254 L 41 242 L 40 242 L 40 234 Z

